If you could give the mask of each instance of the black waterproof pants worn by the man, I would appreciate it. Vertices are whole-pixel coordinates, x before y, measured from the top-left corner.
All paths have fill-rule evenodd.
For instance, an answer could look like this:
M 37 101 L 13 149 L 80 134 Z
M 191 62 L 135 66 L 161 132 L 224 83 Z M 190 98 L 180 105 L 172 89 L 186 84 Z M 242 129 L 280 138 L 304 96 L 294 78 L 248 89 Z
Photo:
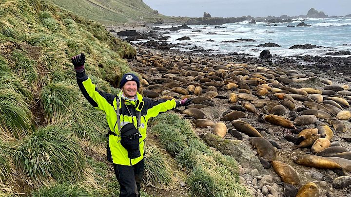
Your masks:
M 119 197 L 140 197 L 140 184 L 144 175 L 144 160 L 142 159 L 132 166 L 113 164 L 120 186 Z

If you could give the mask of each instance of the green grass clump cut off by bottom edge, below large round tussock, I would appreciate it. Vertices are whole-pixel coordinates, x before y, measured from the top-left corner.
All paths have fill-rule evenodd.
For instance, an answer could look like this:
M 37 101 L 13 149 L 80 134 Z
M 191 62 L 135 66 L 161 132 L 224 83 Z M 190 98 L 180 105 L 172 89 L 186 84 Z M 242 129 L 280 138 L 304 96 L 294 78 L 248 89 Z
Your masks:
M 69 183 L 40 187 L 38 190 L 32 191 L 31 195 L 32 197 L 94 197 L 88 188 Z

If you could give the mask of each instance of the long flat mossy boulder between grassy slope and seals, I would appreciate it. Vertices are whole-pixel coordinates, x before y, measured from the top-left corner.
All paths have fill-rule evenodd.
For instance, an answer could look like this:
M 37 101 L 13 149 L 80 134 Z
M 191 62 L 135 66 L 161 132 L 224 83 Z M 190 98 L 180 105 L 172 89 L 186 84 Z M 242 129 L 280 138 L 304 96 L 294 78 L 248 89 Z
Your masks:
M 212 133 L 205 134 L 202 139 L 222 154 L 232 156 L 243 168 L 257 169 L 260 174 L 264 172 L 259 159 L 242 141 L 222 139 Z

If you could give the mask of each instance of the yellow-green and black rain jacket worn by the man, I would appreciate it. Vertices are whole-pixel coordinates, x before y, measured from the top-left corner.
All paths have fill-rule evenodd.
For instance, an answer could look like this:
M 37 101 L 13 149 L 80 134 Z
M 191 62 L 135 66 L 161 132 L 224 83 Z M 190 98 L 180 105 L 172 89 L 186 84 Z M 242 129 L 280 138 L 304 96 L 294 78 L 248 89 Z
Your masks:
M 88 102 L 98 109 L 101 109 L 106 114 L 106 120 L 110 127 L 110 130 L 116 135 L 110 135 L 109 143 L 112 154 L 113 162 L 120 165 L 134 165 L 144 158 L 144 142 L 146 138 L 146 126 L 147 122 L 151 117 L 156 117 L 160 112 L 176 108 L 179 105 L 175 100 L 158 100 L 154 101 L 149 98 L 143 98 L 141 94 L 137 93 L 137 99 L 139 102 L 143 101 L 144 106 L 141 109 L 141 120 L 139 132 L 142 137 L 139 139 L 139 149 L 141 156 L 136 159 L 129 159 L 127 150 L 121 145 L 121 137 L 119 136 L 117 126 L 117 101 L 119 99 L 119 117 L 120 125 L 126 125 L 127 123 L 134 123 L 137 128 L 137 114 L 136 107 L 133 106 L 133 102 L 124 101 L 121 99 L 122 92 L 118 95 L 106 93 L 100 91 L 92 83 L 91 79 L 83 72 L 77 72 L 77 82 L 79 89 L 83 93 L 84 97 Z M 129 111 L 127 110 L 127 108 Z M 130 114 L 131 113 L 131 114 Z

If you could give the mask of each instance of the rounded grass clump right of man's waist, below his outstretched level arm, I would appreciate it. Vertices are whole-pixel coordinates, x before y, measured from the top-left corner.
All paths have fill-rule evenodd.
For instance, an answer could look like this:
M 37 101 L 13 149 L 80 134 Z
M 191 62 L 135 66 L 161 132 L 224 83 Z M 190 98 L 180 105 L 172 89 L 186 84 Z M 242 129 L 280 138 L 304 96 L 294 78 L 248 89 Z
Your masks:
M 159 135 L 162 148 L 174 157 L 187 146 L 179 129 L 167 124 L 157 124 L 152 128 L 152 132 Z

